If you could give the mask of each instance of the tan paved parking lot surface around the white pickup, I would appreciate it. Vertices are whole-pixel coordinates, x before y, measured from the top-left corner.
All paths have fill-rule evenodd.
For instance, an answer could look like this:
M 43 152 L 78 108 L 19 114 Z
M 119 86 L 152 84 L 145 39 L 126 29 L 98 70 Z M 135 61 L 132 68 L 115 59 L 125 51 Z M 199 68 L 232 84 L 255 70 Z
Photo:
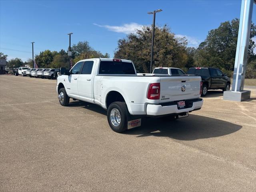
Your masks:
M 56 80 L 0 76 L 0 191 L 255 191 L 256 89 L 210 91 L 175 122 L 113 132 L 106 111 L 60 106 Z

